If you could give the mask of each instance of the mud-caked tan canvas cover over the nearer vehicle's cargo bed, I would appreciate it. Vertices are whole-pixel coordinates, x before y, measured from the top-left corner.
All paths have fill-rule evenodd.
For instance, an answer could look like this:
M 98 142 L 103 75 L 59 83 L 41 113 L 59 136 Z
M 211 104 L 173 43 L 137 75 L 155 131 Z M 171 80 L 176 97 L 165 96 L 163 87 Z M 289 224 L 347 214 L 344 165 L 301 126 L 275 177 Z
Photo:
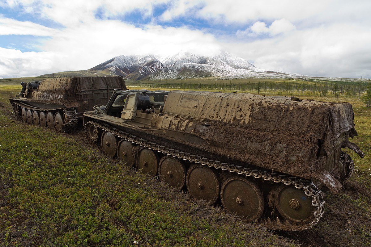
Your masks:
M 159 117 L 156 127 L 188 133 L 193 147 L 267 170 L 315 178 L 334 192 L 341 188 L 336 165 L 341 147 L 357 135 L 349 103 L 172 91 L 163 113 L 174 117 Z M 200 141 L 190 141 L 191 136 Z

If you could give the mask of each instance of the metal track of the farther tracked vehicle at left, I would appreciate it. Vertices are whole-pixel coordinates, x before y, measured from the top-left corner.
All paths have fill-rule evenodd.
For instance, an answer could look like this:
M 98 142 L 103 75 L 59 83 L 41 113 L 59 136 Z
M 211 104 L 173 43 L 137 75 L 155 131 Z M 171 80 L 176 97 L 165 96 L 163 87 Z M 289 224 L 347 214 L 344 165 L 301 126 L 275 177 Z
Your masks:
M 63 131 L 69 131 L 75 128 L 78 124 L 78 116 L 77 111 L 75 108 L 39 108 L 30 106 L 29 104 L 23 103 L 23 102 L 13 102 L 13 105 L 17 105 L 19 107 L 24 107 L 27 110 L 34 110 L 34 111 L 45 111 L 45 112 L 53 112 L 53 115 L 57 111 L 63 111 L 63 119 L 65 121 L 65 125 L 63 127 Z M 16 115 L 17 118 L 19 118 L 19 115 L 15 112 L 15 109 L 13 107 L 13 113 Z

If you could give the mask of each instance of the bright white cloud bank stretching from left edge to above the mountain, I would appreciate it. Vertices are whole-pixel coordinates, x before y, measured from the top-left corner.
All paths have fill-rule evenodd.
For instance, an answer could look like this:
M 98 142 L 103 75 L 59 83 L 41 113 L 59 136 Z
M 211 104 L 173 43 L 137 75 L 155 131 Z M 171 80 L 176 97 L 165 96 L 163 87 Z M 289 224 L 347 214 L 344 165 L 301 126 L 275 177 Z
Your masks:
M 147 25 L 139 29 L 116 20 L 78 23 L 45 41 L 44 52 L 1 48 L 0 76 L 37 76 L 86 70 L 112 57 L 131 54 L 174 54 L 180 50 L 213 53 L 220 49 L 211 34 L 187 28 Z

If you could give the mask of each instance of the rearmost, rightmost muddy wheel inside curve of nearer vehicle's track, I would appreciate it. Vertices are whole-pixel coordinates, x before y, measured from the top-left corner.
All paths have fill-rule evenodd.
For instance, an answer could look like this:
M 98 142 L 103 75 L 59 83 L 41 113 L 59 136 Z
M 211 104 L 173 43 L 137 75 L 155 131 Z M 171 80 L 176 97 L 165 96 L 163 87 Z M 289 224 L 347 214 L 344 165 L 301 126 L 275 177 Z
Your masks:
M 301 189 L 293 186 L 281 185 L 275 194 L 276 208 L 286 220 L 296 222 L 306 221 L 313 216 L 315 207 L 312 197 L 307 196 Z

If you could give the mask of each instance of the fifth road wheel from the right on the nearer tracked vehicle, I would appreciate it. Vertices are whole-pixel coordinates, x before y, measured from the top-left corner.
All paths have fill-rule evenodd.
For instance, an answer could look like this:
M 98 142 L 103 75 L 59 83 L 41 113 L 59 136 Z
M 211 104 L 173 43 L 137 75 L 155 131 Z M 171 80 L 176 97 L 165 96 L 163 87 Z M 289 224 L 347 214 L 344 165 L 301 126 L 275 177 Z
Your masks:
M 158 155 L 148 148 L 142 148 L 138 152 L 137 169 L 143 174 L 157 175 Z

